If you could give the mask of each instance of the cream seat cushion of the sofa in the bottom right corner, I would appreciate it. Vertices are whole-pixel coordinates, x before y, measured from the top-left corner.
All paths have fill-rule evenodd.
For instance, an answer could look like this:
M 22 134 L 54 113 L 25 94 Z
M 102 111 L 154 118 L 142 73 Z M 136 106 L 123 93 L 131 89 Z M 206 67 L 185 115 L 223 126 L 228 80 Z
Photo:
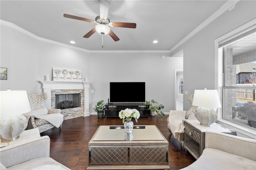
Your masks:
M 255 170 L 255 167 L 256 161 L 221 150 L 206 148 L 196 162 L 182 170 Z

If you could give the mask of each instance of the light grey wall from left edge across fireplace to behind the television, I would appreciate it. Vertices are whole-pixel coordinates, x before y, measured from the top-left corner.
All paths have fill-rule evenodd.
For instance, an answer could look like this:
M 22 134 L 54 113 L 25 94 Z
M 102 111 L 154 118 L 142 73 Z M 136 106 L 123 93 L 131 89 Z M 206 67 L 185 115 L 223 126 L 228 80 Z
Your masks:
M 181 57 L 170 53 L 89 53 L 1 24 L 0 67 L 8 68 L 8 80 L 0 80 L 0 90 L 27 90 L 41 93 L 39 80 L 52 68 L 82 70 L 91 81 L 90 112 L 99 100 L 108 101 L 109 82 L 146 82 L 146 100 L 154 99 L 169 113 L 174 109 L 174 70 L 183 69 Z M 134 96 L 136 97 L 136 96 Z

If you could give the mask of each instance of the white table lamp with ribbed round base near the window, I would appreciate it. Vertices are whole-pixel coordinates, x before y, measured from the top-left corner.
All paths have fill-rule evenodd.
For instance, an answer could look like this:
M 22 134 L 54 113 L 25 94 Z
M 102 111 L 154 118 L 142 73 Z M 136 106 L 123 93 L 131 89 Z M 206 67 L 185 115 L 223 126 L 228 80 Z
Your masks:
M 217 121 L 218 115 L 214 109 L 221 107 L 217 90 L 195 90 L 192 105 L 198 106 L 195 117 L 200 125 L 210 127 Z

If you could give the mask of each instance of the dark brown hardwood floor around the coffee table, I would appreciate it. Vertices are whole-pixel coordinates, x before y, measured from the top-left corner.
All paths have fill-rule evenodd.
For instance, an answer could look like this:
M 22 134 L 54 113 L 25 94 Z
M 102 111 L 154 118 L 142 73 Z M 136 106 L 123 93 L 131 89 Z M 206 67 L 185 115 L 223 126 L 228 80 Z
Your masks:
M 178 143 L 178 140 L 170 135 L 167 127 L 167 117 L 153 116 L 139 118 L 134 125 L 156 125 L 164 137 L 169 141 L 169 166 L 171 170 L 179 170 L 190 164 L 195 159 Z M 72 170 L 85 170 L 88 166 L 88 142 L 100 125 L 123 125 L 119 118 L 98 118 L 97 115 L 78 117 L 65 120 L 62 130 L 57 128 L 49 129 L 41 133 L 41 136 L 48 135 L 50 142 L 50 157 L 64 164 Z M 150 135 L 150 134 L 148 134 Z

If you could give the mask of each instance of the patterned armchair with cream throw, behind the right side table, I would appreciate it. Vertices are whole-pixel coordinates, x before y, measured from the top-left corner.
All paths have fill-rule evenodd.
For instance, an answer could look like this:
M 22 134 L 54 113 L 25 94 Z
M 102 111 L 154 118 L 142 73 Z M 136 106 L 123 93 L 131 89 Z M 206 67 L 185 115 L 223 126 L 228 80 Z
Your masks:
M 197 106 L 192 105 L 193 98 L 194 94 L 188 94 L 188 101 L 190 102 L 188 111 L 171 110 L 167 117 L 167 127 L 170 130 L 170 133 L 178 139 L 180 147 L 182 147 L 182 141 L 184 141 L 184 119 L 196 120 L 194 113 Z

